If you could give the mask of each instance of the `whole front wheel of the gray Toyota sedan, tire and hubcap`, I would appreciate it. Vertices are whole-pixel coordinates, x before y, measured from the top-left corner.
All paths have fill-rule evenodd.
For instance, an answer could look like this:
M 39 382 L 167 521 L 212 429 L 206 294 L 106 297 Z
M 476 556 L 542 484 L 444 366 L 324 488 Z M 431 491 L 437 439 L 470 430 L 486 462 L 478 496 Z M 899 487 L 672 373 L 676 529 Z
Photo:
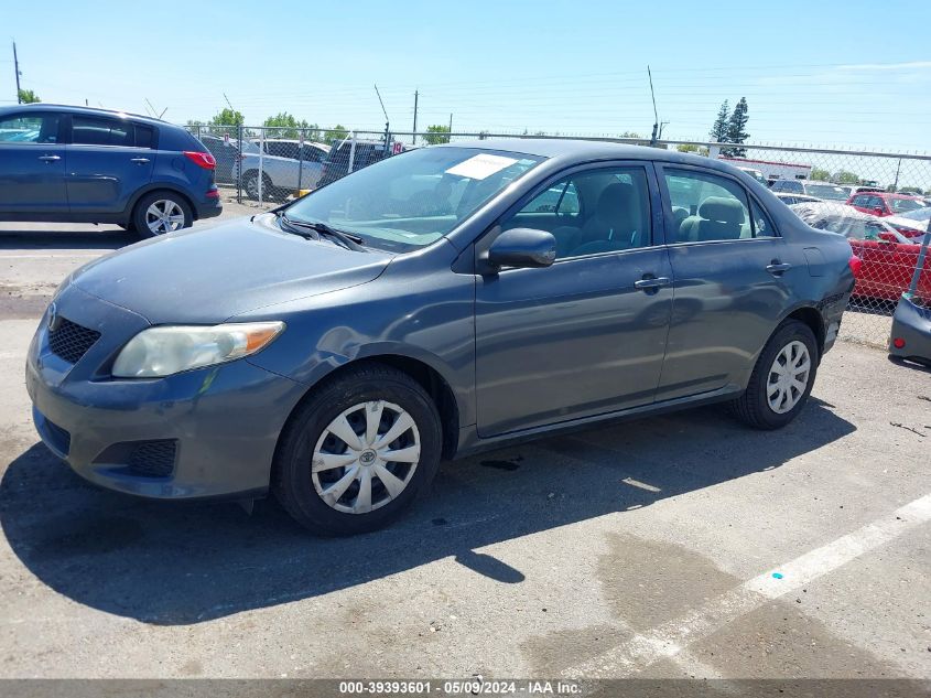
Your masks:
M 440 465 L 440 418 L 410 376 L 369 364 L 322 385 L 289 420 L 272 488 L 313 533 L 381 528 Z

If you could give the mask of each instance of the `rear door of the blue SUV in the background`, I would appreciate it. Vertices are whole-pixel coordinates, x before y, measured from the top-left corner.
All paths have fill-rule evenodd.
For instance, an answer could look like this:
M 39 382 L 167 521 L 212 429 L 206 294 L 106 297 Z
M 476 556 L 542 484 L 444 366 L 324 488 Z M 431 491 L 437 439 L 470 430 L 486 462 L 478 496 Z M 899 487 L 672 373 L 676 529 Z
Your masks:
M 120 213 L 152 180 L 154 129 L 118 117 L 71 117 L 65 182 L 72 214 Z

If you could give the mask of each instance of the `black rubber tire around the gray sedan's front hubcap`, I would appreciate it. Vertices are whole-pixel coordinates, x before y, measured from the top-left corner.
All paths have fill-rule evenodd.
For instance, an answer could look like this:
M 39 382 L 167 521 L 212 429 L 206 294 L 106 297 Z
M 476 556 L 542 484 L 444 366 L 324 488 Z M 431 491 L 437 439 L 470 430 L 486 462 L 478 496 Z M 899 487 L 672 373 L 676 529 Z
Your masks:
M 314 486 L 314 448 L 344 410 L 369 400 L 392 402 L 411 416 L 420 434 L 420 460 L 393 500 L 365 514 L 344 513 L 327 504 Z M 398 518 L 430 484 L 440 466 L 441 450 L 440 417 L 426 390 L 400 371 L 360 364 L 314 388 L 291 416 L 275 451 L 271 488 L 284 509 L 314 534 L 348 536 L 375 530 Z

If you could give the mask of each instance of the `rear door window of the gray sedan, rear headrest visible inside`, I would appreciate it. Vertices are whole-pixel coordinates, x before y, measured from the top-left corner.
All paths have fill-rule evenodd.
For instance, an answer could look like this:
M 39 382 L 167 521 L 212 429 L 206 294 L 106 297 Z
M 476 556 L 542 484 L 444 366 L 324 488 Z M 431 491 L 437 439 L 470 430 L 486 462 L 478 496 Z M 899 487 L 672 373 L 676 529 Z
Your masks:
M 708 243 L 754 237 L 749 200 L 743 186 L 727 178 L 693 170 L 664 170 L 673 214 L 673 243 Z M 772 229 L 760 212 L 760 235 Z M 766 224 L 766 226 L 764 226 Z

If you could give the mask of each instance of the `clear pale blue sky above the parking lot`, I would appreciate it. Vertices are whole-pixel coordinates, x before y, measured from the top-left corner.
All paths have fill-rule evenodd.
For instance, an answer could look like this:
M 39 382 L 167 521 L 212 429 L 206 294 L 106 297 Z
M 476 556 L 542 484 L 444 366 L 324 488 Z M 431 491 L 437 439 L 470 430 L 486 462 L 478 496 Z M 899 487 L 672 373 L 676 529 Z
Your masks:
M 44 101 L 248 124 L 705 140 L 721 103 L 760 143 L 931 152 L 931 2 L 575 0 L 147 3 L 4 8 L 0 106 Z M 875 18 L 875 19 L 869 19 Z M 917 31 L 917 33 L 916 33 Z

